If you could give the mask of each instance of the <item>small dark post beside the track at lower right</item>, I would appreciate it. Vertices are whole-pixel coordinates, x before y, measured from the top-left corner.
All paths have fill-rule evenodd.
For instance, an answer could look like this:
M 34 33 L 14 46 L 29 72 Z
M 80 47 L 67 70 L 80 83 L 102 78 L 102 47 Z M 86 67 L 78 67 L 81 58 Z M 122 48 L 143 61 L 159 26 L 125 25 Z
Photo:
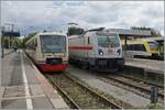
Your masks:
M 158 97 L 158 88 L 157 87 L 151 87 L 151 103 L 156 103 Z

